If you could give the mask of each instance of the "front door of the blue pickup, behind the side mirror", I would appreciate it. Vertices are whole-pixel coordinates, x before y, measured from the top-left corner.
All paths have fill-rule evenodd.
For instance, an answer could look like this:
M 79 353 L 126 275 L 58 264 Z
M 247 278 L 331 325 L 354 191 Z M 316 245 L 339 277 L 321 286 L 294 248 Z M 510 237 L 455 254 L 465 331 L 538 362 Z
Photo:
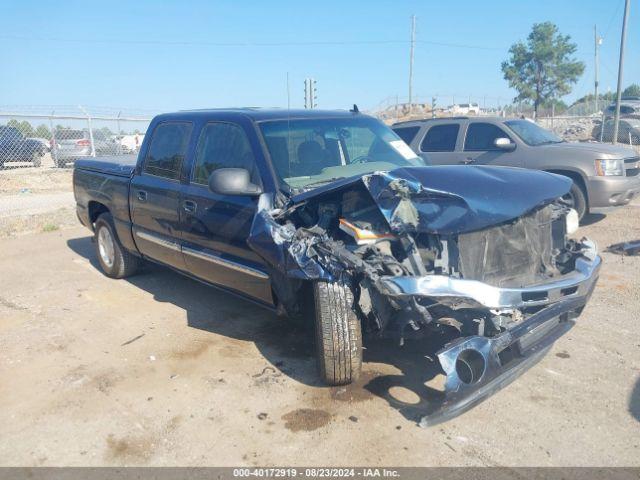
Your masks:
M 272 305 L 262 260 L 249 248 L 258 197 L 221 195 L 208 187 L 218 168 L 245 168 L 260 185 L 255 154 L 242 126 L 206 123 L 198 136 L 188 185 L 180 205 L 182 252 L 189 273 Z

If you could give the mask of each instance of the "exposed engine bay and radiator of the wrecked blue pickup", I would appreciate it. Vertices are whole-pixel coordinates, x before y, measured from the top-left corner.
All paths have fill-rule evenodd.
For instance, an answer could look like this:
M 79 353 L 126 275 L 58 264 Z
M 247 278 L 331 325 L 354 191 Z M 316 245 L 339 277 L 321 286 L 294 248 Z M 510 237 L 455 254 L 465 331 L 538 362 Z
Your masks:
M 379 176 L 371 175 L 365 182 L 376 182 Z M 400 197 L 409 187 L 394 181 L 391 188 Z M 438 195 L 434 198 L 439 200 Z M 480 230 L 431 233 L 416 228 L 420 213 L 408 195 L 397 201 L 388 222 L 366 183 L 359 183 L 286 210 L 263 211 L 261 216 L 274 238 L 287 245 L 289 255 L 278 262 L 288 264 L 285 276 L 348 277 L 365 331 L 393 335 L 402 342 L 442 324 L 454 326 L 462 335 L 491 336 L 536 307 L 492 309 L 465 298 L 389 295 L 381 280 L 438 275 L 500 288 L 553 280 L 574 269 L 583 248 L 566 240 L 569 212 L 554 201 Z M 295 313 L 298 306 L 291 292 L 274 288 L 283 306 Z

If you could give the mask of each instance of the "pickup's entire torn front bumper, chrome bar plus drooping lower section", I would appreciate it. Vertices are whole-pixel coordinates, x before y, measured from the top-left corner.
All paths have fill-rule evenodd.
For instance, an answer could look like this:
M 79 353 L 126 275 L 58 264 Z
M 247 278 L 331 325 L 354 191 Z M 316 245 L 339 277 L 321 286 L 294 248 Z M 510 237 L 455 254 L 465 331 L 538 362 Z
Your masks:
M 528 288 L 497 288 L 482 282 L 429 277 L 384 277 L 390 296 L 420 296 L 455 306 L 489 309 L 539 307 L 495 337 L 460 337 L 437 353 L 446 375 L 444 399 L 420 422 L 435 425 L 469 410 L 535 365 L 575 324 L 595 288 L 601 259 L 596 246 L 585 249 L 576 269 L 561 279 Z M 438 277 L 438 278 L 433 278 Z

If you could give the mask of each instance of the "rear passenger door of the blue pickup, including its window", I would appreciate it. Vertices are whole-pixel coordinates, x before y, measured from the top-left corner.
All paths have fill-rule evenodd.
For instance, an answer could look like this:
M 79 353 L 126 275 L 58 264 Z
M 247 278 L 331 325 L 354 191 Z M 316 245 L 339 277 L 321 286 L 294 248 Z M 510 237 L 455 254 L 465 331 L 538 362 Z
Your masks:
M 159 123 L 129 189 L 138 250 L 181 270 L 185 264 L 180 251 L 180 177 L 192 130 L 190 122 Z

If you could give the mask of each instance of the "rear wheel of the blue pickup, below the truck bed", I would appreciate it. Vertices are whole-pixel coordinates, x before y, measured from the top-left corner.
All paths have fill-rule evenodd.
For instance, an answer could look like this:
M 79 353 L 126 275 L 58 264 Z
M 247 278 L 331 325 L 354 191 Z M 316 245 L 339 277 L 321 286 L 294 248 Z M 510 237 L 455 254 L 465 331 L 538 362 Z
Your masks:
M 107 277 L 126 278 L 140 268 L 140 258 L 120 244 L 110 213 L 103 213 L 96 220 L 94 240 L 100 268 Z

